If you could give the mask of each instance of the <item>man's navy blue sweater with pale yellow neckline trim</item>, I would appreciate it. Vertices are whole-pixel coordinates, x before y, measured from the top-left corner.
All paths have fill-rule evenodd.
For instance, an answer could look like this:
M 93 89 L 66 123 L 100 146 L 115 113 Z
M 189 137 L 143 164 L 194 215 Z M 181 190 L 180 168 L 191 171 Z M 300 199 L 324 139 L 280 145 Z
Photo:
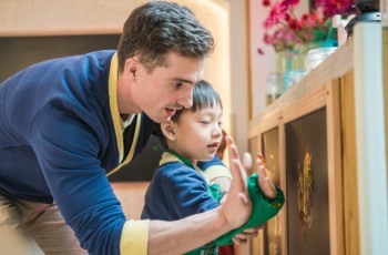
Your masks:
M 155 125 L 140 114 L 122 137 L 120 114 L 111 108 L 116 104 L 116 94 L 110 94 L 116 84 L 109 82 L 114 53 L 41 62 L 0 83 L 0 193 L 55 201 L 91 254 L 120 253 L 126 218 L 106 174 L 141 153 Z

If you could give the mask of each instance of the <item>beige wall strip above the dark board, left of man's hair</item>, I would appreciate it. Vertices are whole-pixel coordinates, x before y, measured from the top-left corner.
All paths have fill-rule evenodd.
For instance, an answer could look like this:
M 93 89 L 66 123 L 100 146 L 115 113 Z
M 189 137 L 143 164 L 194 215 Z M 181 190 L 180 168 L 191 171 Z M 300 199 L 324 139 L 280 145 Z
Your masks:
M 120 32 L 145 0 L 0 0 L 0 34 Z

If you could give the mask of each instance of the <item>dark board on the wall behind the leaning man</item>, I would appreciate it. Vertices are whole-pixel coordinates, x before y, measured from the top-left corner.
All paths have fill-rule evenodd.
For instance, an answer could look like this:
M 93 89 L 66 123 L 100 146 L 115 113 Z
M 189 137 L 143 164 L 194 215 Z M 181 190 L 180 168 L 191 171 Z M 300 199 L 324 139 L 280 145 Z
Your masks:
M 7 37 L 0 38 L 0 82 L 43 60 L 118 49 L 120 34 Z M 109 178 L 112 182 L 150 181 L 161 157 L 157 141 L 151 137 L 144 153 Z

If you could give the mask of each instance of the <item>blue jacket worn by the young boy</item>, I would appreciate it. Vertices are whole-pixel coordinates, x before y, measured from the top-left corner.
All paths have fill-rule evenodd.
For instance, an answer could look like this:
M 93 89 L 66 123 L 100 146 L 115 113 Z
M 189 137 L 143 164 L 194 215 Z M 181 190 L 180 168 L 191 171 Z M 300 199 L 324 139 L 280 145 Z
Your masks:
M 165 152 L 145 194 L 142 218 L 176 221 L 215 208 L 206 178 Z

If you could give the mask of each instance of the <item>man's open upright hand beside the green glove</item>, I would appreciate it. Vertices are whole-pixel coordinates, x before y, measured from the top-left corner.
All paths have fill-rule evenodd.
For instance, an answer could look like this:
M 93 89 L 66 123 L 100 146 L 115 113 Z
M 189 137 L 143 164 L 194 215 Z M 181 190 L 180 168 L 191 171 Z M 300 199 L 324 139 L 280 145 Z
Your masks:
M 233 139 L 227 135 L 226 144 L 229 155 L 232 184 L 221 213 L 232 228 L 237 228 L 246 223 L 252 213 L 252 202 L 247 191 L 247 176 L 238 157 L 238 151 Z M 244 163 L 245 164 L 245 163 Z

